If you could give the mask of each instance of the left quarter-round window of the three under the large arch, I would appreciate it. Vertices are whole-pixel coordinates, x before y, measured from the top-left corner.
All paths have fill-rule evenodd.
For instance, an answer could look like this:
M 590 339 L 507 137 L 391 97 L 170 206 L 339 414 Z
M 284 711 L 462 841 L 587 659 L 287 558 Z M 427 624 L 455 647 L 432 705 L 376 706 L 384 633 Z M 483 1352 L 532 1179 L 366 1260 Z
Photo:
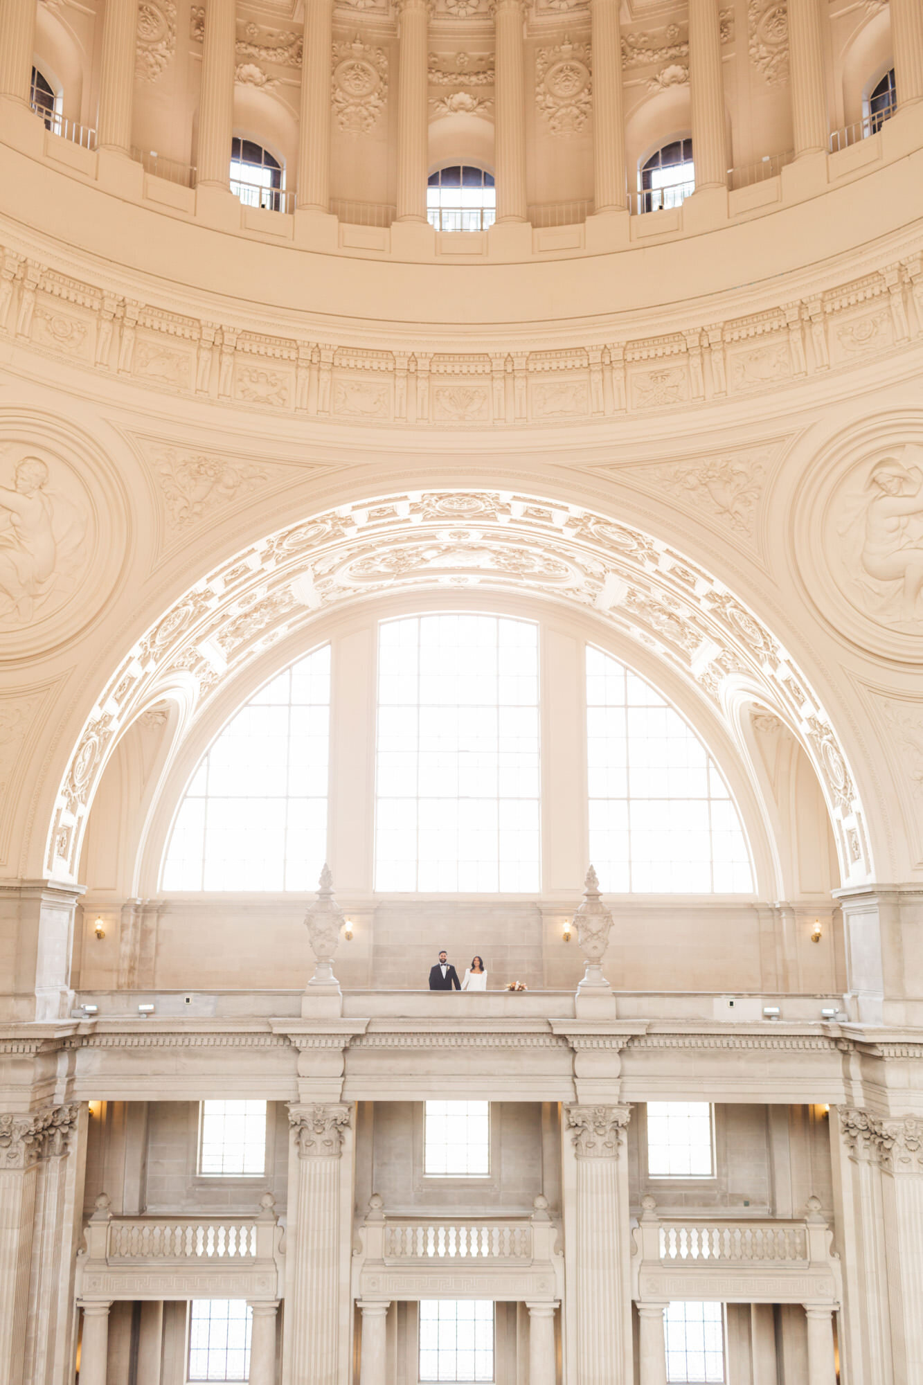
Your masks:
M 327 855 L 330 645 L 267 683 L 200 763 L 164 889 L 309 891 Z

